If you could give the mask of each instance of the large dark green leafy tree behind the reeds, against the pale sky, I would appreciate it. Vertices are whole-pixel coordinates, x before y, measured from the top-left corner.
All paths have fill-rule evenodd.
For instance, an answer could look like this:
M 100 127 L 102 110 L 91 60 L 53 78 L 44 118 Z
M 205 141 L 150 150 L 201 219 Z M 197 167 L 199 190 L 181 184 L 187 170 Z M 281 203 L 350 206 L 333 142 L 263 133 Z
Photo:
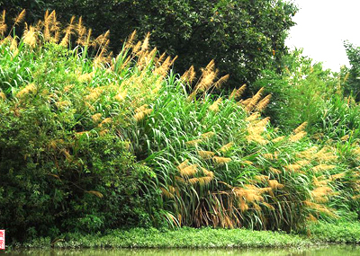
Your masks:
M 24 4 L 11 3 L 4 7 Z M 150 32 L 159 51 L 179 57 L 175 63 L 177 72 L 184 72 L 189 64 L 198 69 L 214 59 L 221 74 L 231 74 L 232 87 L 253 83 L 264 68 L 279 66 L 287 52 L 286 32 L 293 26 L 292 18 L 297 11 L 293 4 L 283 0 L 43 0 L 36 3 L 31 5 L 31 16 L 41 15 L 44 9 L 57 10 L 61 22 L 67 22 L 71 15 L 83 16 L 95 34 L 110 30 L 115 51 L 133 30 L 139 35 Z

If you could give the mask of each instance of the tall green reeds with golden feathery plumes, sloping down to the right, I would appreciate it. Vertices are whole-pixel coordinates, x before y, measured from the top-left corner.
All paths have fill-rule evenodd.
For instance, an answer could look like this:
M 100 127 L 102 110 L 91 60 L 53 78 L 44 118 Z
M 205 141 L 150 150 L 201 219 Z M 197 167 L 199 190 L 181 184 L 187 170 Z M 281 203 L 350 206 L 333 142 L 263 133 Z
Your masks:
M 343 138 L 342 146 L 314 143 L 306 123 L 290 134 L 276 131 L 260 114 L 271 101 L 264 89 L 241 99 L 246 90 L 242 85 L 216 98 L 212 90 L 229 75 L 218 77 L 212 60 L 200 75 L 193 67 L 184 75 L 174 74 L 176 57 L 152 49 L 149 34 L 139 41 L 134 32 L 113 56 L 109 32 L 93 38 L 81 18 L 72 18 L 65 30 L 59 27 L 55 12 L 45 13 L 35 26 L 26 24 L 22 38 L 7 35 L 1 27 L 1 135 L 8 141 L 19 139 L 8 124 L 27 119 L 28 127 L 17 131 L 39 130 L 36 137 L 44 138 L 29 142 L 35 153 L 19 152 L 25 159 L 19 163 L 23 170 L 30 163 L 27 159 L 34 170 L 44 163 L 39 161 L 48 161 L 55 167 L 46 175 L 72 184 L 69 190 L 82 195 L 79 203 L 85 196 L 94 197 L 94 205 L 112 204 L 112 190 L 131 177 L 130 190 L 137 192 L 130 195 L 142 199 L 136 211 L 151 225 L 291 231 L 310 220 L 358 210 L 357 142 L 350 146 Z M 43 110 L 51 113 L 49 120 L 40 118 Z M 56 125 L 46 127 L 48 121 Z M 107 138 L 104 144 L 102 137 Z M 83 154 L 92 142 L 99 142 L 97 162 Z M 3 141 L 1 157 L 10 163 L 6 146 Z M 106 164 L 103 155 L 110 155 Z M 131 161 L 117 165 L 117 157 L 125 155 Z M 345 155 L 351 155 L 350 160 Z M 116 172 L 104 170 L 112 167 Z M 94 177 L 103 182 L 97 186 L 101 190 L 91 182 L 84 185 L 93 177 L 90 173 L 100 173 Z M 59 200 L 65 206 L 72 199 Z M 117 201 L 114 207 L 121 211 L 124 206 Z M 131 205 L 125 207 L 131 211 Z M 106 210 L 101 207 L 92 216 L 103 216 Z M 115 216 L 112 222 L 104 218 L 94 231 L 123 223 L 124 216 Z

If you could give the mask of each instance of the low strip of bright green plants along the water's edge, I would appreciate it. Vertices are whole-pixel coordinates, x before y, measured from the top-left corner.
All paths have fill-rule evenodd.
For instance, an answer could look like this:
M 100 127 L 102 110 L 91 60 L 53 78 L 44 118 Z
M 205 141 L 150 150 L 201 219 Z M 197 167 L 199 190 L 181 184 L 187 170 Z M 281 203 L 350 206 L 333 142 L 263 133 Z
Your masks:
M 134 228 L 105 234 L 64 234 L 51 241 L 38 238 L 22 248 L 259 248 L 306 247 L 325 243 L 360 243 L 360 222 L 309 225 L 307 234 L 247 229 L 189 228 L 157 230 Z

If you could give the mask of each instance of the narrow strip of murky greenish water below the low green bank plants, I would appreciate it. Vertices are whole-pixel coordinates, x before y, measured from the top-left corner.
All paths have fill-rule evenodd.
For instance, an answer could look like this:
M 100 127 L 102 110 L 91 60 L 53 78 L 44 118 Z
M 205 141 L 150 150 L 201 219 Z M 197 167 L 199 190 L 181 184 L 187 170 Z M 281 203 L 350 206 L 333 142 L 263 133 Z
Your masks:
M 3 254 L 4 253 L 4 254 Z M 11 256 L 220 256 L 220 255 L 247 255 L 247 256 L 280 256 L 280 255 L 316 255 L 316 256 L 347 256 L 360 255 L 360 246 L 355 245 L 329 245 L 311 248 L 292 249 L 84 249 L 84 250 L 23 250 L 1 252 L 0 255 Z

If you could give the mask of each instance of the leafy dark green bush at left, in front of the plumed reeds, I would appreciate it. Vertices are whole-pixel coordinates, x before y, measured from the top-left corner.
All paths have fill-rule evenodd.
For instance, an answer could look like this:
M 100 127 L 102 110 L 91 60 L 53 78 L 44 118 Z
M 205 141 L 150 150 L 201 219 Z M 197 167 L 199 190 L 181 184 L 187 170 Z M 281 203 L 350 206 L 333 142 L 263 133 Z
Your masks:
M 152 174 L 122 137 L 126 110 L 99 93 L 114 76 L 80 49 L 15 43 L 0 45 L 0 223 L 10 241 L 150 225 L 141 185 Z

